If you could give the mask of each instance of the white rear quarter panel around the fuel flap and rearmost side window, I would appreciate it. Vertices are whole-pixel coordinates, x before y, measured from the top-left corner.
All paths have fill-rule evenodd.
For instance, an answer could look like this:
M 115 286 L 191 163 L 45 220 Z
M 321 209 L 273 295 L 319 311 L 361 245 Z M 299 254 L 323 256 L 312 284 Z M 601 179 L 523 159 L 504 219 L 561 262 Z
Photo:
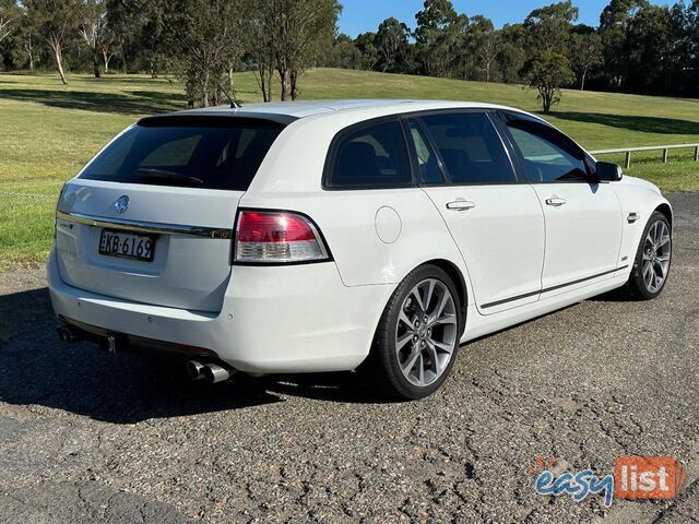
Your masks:
M 443 259 L 461 271 L 471 297 L 463 259 L 422 189 L 322 189 L 325 157 L 335 134 L 378 116 L 382 115 L 376 110 L 367 115 L 339 111 L 292 123 L 260 166 L 240 206 L 299 211 L 310 216 L 322 231 L 346 286 L 395 285 L 424 262 Z M 379 212 L 386 207 L 388 212 Z M 389 230 L 395 227 L 393 213 L 400 221 L 398 238 L 383 235 L 382 239 L 382 225 Z M 389 224 L 384 224 L 387 221 Z

